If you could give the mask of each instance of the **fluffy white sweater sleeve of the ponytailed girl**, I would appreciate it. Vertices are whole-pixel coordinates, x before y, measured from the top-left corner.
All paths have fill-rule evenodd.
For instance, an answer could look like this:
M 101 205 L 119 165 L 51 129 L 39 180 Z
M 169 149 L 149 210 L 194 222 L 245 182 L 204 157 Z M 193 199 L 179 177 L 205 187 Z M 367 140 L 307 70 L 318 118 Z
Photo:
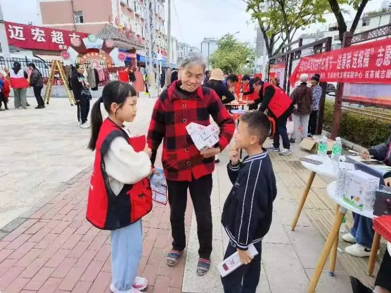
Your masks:
M 104 157 L 109 184 L 118 195 L 124 184 L 134 184 L 151 173 L 151 160 L 141 151 L 135 152 L 123 137 L 111 142 Z

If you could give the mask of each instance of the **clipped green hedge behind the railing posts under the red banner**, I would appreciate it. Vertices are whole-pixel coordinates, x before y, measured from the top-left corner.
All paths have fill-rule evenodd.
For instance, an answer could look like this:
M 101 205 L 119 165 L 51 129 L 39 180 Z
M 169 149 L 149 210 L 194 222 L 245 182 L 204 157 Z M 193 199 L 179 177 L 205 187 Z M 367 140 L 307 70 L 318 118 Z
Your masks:
M 326 100 L 323 129 L 331 131 L 334 102 Z M 390 122 L 366 115 L 342 111 L 339 136 L 357 145 L 369 147 L 383 143 L 390 136 Z

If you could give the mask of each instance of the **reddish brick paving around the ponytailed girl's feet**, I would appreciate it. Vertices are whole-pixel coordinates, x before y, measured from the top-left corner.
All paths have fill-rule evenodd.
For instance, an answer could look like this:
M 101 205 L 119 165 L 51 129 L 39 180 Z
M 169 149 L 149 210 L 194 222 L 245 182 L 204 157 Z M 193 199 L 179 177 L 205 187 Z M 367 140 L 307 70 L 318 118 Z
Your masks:
M 74 179 L 74 183 L 69 183 L 62 193 L 0 241 L 0 290 L 109 293 L 110 231 L 96 229 L 87 222 L 85 185 L 89 173 L 82 177 L 84 181 L 79 181 L 81 177 Z M 185 216 L 187 231 L 191 209 L 190 203 Z M 180 292 L 185 256 L 174 268 L 166 265 L 165 255 L 171 249 L 169 222 L 169 207 L 158 204 L 143 219 L 139 272 L 150 284 L 144 292 Z

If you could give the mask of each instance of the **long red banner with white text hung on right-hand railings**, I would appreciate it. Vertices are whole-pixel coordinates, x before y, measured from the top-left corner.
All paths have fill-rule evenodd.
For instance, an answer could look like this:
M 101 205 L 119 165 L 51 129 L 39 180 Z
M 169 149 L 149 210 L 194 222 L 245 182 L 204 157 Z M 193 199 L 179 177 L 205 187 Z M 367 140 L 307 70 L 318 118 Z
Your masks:
M 303 57 L 289 78 L 318 73 L 322 82 L 391 84 L 391 38 Z

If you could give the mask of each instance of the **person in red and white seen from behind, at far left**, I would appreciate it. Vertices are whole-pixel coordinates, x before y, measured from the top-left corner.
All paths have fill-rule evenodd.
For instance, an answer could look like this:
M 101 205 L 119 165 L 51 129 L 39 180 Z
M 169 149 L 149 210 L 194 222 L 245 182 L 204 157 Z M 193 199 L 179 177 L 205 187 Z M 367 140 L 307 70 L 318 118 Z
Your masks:
M 14 62 L 14 67 L 11 68 L 10 72 L 11 87 L 14 89 L 14 105 L 15 109 L 27 109 L 27 88 L 29 87 L 27 81 L 27 72 L 22 69 L 20 62 Z

